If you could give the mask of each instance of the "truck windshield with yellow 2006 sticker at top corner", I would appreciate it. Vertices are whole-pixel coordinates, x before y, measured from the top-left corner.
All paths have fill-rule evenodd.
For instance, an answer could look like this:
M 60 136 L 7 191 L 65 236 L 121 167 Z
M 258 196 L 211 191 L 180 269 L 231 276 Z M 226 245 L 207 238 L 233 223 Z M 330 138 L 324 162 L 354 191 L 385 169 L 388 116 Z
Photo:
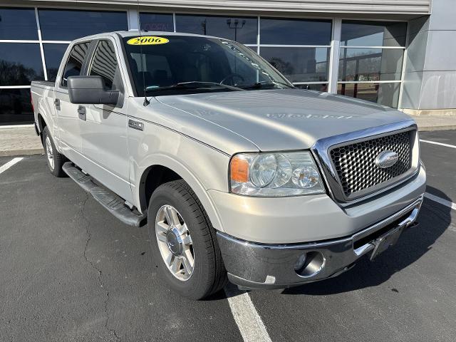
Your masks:
M 147 33 L 123 41 L 140 96 L 144 90 L 155 96 L 293 87 L 269 63 L 233 41 Z

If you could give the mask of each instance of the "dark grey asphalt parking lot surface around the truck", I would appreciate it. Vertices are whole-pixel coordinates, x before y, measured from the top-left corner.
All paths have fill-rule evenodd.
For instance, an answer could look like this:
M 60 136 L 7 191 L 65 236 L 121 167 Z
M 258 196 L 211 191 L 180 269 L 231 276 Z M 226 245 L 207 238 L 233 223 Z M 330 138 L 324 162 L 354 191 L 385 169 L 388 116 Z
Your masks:
M 456 131 L 420 138 L 456 146 Z M 455 203 L 456 148 L 421 146 L 427 192 Z M 456 341 L 456 210 L 443 204 L 425 199 L 418 227 L 336 278 L 190 301 L 161 281 L 145 228 L 44 156 L 1 172 L 13 158 L 0 157 L 0 341 Z M 266 335 L 246 333 L 242 305 Z

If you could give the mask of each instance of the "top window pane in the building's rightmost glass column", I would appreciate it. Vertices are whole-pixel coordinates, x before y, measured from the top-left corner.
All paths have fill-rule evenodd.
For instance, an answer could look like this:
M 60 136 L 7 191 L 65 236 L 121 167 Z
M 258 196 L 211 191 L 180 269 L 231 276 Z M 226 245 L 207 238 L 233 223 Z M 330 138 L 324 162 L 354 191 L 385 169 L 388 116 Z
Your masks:
M 341 45 L 405 46 L 407 23 L 342 21 Z

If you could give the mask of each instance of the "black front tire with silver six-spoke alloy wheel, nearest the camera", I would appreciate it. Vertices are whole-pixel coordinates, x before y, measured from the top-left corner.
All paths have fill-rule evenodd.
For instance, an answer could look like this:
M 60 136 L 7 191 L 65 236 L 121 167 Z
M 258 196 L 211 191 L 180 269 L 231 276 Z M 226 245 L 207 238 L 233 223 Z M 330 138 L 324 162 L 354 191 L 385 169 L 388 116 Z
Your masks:
M 147 217 L 152 257 L 174 291 L 198 300 L 223 288 L 227 271 L 215 229 L 184 180 L 157 187 Z

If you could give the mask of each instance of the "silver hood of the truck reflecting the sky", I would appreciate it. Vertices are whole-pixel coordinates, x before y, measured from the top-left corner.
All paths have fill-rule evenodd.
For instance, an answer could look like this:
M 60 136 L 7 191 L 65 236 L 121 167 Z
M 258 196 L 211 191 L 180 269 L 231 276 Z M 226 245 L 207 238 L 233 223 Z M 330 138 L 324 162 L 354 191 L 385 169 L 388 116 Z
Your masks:
M 172 95 L 157 100 L 237 133 L 263 151 L 306 149 L 321 138 L 410 120 L 383 105 L 300 89 Z

